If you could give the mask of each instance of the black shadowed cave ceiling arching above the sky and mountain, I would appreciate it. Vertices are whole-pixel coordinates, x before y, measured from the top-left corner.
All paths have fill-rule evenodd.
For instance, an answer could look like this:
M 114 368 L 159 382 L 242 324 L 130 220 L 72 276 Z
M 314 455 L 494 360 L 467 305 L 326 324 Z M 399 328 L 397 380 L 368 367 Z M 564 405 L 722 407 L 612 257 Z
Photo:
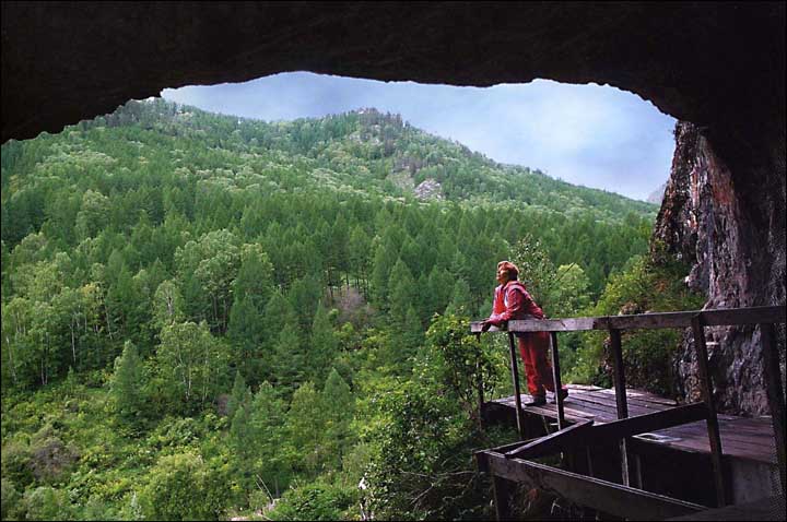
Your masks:
M 3 2 L 2 140 L 286 71 L 609 84 L 751 163 L 784 143 L 785 3 Z

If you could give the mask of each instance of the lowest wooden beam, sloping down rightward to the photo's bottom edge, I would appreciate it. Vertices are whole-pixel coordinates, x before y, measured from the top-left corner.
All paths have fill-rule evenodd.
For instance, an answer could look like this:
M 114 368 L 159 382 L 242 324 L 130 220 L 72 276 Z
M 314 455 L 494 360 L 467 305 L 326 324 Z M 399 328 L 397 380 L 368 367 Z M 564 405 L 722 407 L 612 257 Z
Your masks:
M 493 476 L 524 483 L 580 506 L 631 520 L 662 520 L 705 510 L 704 506 L 685 502 L 641 489 L 621 486 L 600 478 L 550 467 L 520 459 L 484 452 L 485 467 Z

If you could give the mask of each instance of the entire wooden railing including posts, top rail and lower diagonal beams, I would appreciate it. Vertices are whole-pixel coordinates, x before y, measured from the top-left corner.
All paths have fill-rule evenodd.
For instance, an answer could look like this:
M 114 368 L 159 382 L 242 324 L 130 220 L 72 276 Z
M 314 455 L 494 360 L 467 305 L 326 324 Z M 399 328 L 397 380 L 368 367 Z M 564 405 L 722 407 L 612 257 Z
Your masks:
M 610 349 L 613 363 L 613 380 L 615 388 L 615 404 L 618 407 L 619 420 L 608 423 L 606 425 L 594 426 L 592 422 L 580 423 L 571 427 L 566 427 L 565 415 L 563 411 L 563 399 L 555 393 L 557 404 L 557 427 L 559 431 L 550 436 L 543 437 L 528 443 L 507 444 L 504 448 L 483 451 L 477 453 L 479 466 L 492 473 L 495 476 L 506 476 L 510 479 L 521 478 L 522 474 L 535 473 L 537 475 L 549 475 L 548 470 L 552 470 L 552 478 L 557 483 L 572 484 L 567 491 L 573 491 L 576 497 L 577 491 L 585 491 L 587 495 L 582 496 L 586 501 L 608 502 L 610 498 L 619 500 L 631 499 L 632 496 L 638 498 L 641 502 L 647 506 L 654 506 L 650 514 L 654 517 L 676 515 L 680 512 L 690 512 L 697 507 L 682 502 L 678 499 L 668 497 L 654 496 L 646 491 L 630 488 L 630 468 L 627 462 L 627 439 L 634 435 L 677 426 L 690 422 L 704 419 L 707 424 L 707 432 L 710 446 L 710 459 L 714 471 L 714 486 L 716 490 L 716 499 L 718 506 L 726 506 L 725 497 L 725 476 L 721 467 L 721 439 L 719 436 L 719 425 L 716 415 L 716 405 L 713 398 L 713 382 L 708 369 L 707 347 L 705 343 L 705 327 L 721 325 L 744 325 L 756 324 L 760 328 L 762 339 L 763 369 L 766 382 L 766 393 L 768 405 L 772 412 L 774 438 L 776 442 L 776 452 L 778 466 L 780 472 L 782 489 L 785 490 L 785 398 L 782 388 L 782 373 L 779 371 L 779 355 L 776 347 L 776 335 L 774 323 L 785 323 L 787 308 L 785 306 L 773 307 L 753 307 L 753 308 L 732 308 L 719 310 L 694 310 L 679 311 L 667 313 L 643 313 L 636 316 L 607 316 L 591 318 L 572 318 L 572 319 L 545 319 L 545 320 L 515 320 L 509 321 L 506 328 L 492 328 L 490 332 L 506 332 L 508 334 L 508 347 L 510 357 L 512 381 L 514 384 L 514 395 L 516 404 L 517 429 L 520 438 L 525 438 L 524 418 L 521 410 L 521 399 L 519 391 L 519 375 L 517 369 L 517 355 L 514 343 L 515 333 L 524 332 L 549 332 L 552 339 L 552 378 L 554 389 L 561 389 L 561 371 L 560 355 L 557 351 L 557 332 L 578 332 L 589 330 L 607 331 L 610 334 Z M 481 335 L 483 323 L 471 323 L 471 332 Z M 678 406 L 658 412 L 650 415 L 637 417 L 629 417 L 629 406 L 625 393 L 625 371 L 623 368 L 623 354 L 621 345 L 621 332 L 625 330 L 639 329 L 663 329 L 663 328 L 691 328 L 694 335 L 694 346 L 697 355 L 698 382 L 702 392 L 702 402 L 685 406 Z M 479 401 L 483 404 L 483 389 L 479 384 Z M 594 440 L 620 440 L 621 450 L 621 474 L 623 486 L 612 483 L 603 483 L 602 481 L 583 477 L 582 475 L 571 474 L 569 472 L 550 468 L 537 463 L 528 462 L 522 459 L 532 459 L 541 456 L 561 449 L 576 447 L 577 444 L 589 444 Z M 518 462 L 519 467 L 513 466 L 514 462 Z M 525 468 L 529 470 L 526 471 Z M 571 475 L 571 476 L 568 476 Z M 584 485 L 577 488 L 577 477 L 584 478 L 588 484 L 592 484 L 596 488 Z M 544 478 L 544 477 L 541 477 Z M 601 484 L 603 483 L 603 484 Z M 500 502 L 501 495 L 497 489 L 503 487 L 501 481 L 495 478 L 495 505 L 498 508 L 498 518 L 501 517 Z M 623 487 L 625 490 L 621 490 Z M 600 488 L 600 489 L 599 489 Z M 631 489 L 631 490 L 629 490 Z M 606 491 L 607 495 L 594 495 L 592 491 Z M 590 493 L 588 493 L 590 491 Z M 610 495 L 612 497 L 610 497 Z M 658 498 L 656 498 L 658 497 Z M 606 499 L 606 500 L 604 500 Z M 579 499 L 582 500 L 582 499 Z M 614 503 L 614 502 L 613 502 Z M 604 503 L 604 506 L 607 506 Z M 642 507 L 642 506 L 641 506 Z M 600 508 L 599 508 L 600 509 Z M 642 512 L 641 512 L 642 513 Z M 624 514 L 621 512 L 621 515 Z

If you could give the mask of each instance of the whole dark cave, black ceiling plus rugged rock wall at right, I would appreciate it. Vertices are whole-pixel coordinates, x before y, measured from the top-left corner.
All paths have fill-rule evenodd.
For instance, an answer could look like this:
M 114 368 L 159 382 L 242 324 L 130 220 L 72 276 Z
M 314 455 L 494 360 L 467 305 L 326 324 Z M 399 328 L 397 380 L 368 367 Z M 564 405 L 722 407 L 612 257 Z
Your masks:
M 633 92 L 690 126 L 656 234 L 706 307 L 785 304 L 784 2 L 3 2 L 2 141 L 289 71 Z M 729 360 L 759 357 L 754 332 L 719 335 Z M 764 412 L 742 396 L 756 371 L 720 376 L 741 391 L 725 407 Z

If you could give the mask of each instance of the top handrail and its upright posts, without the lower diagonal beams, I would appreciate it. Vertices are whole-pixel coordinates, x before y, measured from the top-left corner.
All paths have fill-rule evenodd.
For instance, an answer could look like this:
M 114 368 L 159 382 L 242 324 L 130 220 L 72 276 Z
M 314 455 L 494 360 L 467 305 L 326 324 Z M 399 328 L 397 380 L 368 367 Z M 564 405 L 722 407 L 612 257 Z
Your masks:
M 510 344 L 512 378 L 516 394 L 517 427 L 520 437 L 525 439 L 524 420 L 521 418 L 521 406 L 519 401 L 519 385 L 516 354 L 514 349 L 514 333 L 525 332 L 550 332 L 552 341 L 552 367 L 555 390 L 560 389 L 561 377 L 557 355 L 557 332 L 579 332 L 599 330 L 609 332 L 612 339 L 611 349 L 613 352 L 613 377 L 615 381 L 615 399 L 618 402 L 618 417 L 626 418 L 627 405 L 625 395 L 625 376 L 622 367 L 622 348 L 620 334 L 623 330 L 641 329 L 663 329 L 663 328 L 691 328 L 693 330 L 694 345 L 697 352 L 697 364 L 700 370 L 700 384 L 702 388 L 703 403 L 707 407 L 707 429 L 712 449 L 712 461 L 714 467 L 715 488 L 719 506 L 726 505 L 726 486 L 721 465 L 721 441 L 719 437 L 718 420 L 713 399 L 713 384 L 707 368 L 707 351 L 705 347 L 704 327 L 732 327 L 755 324 L 760 327 L 763 343 L 763 366 L 765 370 L 766 392 L 768 405 L 773 415 L 774 436 L 776 439 L 777 458 L 784 491 L 787 479 L 785 478 L 785 403 L 782 390 L 779 371 L 779 357 L 776 348 L 776 340 L 773 324 L 787 322 L 787 306 L 765 306 L 748 308 L 727 308 L 709 310 L 690 310 L 678 312 L 638 313 L 634 316 L 603 316 L 566 319 L 541 319 L 541 320 L 512 320 L 503 328 L 492 327 L 490 332 L 507 332 Z M 472 322 L 470 332 L 480 337 L 483 322 Z M 563 400 L 555 393 L 557 403 L 557 420 L 561 429 L 564 428 Z M 479 392 L 480 406 L 483 405 L 483 391 Z M 622 474 L 625 486 L 629 486 L 629 464 L 625 439 L 621 440 Z

